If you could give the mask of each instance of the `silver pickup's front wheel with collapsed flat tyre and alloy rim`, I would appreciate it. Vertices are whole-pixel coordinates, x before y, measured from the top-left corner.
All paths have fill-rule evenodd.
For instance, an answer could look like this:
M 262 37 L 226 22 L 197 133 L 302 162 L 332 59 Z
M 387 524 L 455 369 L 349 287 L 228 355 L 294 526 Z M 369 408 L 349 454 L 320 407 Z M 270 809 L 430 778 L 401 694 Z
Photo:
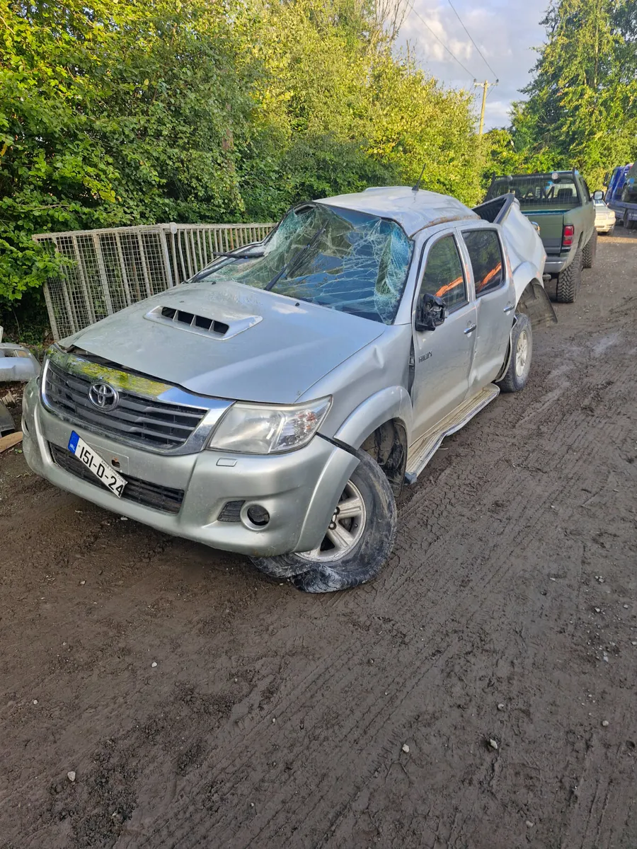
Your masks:
M 381 467 L 368 453 L 355 453 L 360 463 L 341 493 L 319 547 L 302 554 L 253 557 L 257 569 L 289 577 L 306 593 L 333 593 L 378 575 L 396 539 L 396 501 Z

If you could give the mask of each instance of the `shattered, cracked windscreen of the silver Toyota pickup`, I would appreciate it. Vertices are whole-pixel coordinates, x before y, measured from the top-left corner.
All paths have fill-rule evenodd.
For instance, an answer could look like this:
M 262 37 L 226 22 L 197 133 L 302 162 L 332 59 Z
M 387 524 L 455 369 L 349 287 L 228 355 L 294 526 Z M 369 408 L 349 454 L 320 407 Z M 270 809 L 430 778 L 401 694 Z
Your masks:
M 258 256 L 215 264 L 206 279 L 233 280 L 391 324 L 413 242 L 396 222 L 308 204 L 291 210 L 262 249 Z

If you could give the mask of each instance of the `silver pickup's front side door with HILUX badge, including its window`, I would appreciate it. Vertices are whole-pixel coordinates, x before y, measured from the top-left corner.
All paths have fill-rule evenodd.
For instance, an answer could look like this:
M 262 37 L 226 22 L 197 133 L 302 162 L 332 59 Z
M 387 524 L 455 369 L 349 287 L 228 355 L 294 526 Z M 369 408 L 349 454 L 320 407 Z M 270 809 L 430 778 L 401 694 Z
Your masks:
M 469 391 L 476 306 L 451 233 L 426 245 L 414 307 L 426 292 L 443 299 L 448 316 L 435 330 L 414 329 L 413 441 L 458 407 Z

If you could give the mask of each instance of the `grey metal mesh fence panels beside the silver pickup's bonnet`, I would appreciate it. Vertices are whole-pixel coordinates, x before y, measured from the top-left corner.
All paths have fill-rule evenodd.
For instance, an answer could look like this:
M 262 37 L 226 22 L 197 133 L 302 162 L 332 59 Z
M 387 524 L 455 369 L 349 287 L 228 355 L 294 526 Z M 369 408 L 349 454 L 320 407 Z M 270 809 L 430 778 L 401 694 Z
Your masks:
M 55 340 L 183 283 L 215 251 L 260 242 L 273 224 L 155 224 L 39 233 L 45 250 L 68 262 L 44 284 Z

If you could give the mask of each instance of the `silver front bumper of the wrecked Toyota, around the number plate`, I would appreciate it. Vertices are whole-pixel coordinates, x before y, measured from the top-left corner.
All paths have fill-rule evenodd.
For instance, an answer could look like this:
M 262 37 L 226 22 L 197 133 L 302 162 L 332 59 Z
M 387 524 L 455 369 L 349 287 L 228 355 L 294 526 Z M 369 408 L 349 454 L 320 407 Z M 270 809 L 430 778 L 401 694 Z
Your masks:
M 178 514 L 117 498 L 97 478 L 93 485 L 55 464 L 48 443 L 66 449 L 71 430 L 107 462 L 117 458 L 122 475 L 183 490 Z M 36 380 L 25 389 L 23 431 L 26 462 L 55 486 L 159 531 L 258 557 L 316 548 L 358 465 L 353 454 L 320 436 L 298 451 L 263 457 L 206 450 L 166 456 L 121 446 L 49 413 Z M 245 502 L 242 520 L 217 519 L 228 501 Z M 251 526 L 245 517 L 251 503 L 268 510 L 268 525 Z

